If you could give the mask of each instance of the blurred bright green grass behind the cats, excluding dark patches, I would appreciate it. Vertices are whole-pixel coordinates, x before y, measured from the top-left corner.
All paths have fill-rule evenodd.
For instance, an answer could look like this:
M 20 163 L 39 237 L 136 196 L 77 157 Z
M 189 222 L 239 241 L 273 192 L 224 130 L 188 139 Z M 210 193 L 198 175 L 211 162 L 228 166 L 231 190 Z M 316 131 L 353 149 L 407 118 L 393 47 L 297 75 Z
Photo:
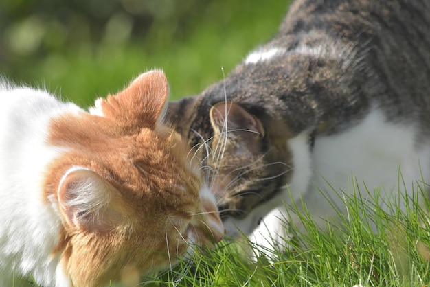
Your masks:
M 16 5 L 21 2 L 18 1 Z M 93 2 L 87 1 L 87 4 Z M 121 1 L 108 0 L 106 5 L 111 2 Z M 58 20 L 51 19 L 49 13 L 32 11 L 38 5 L 30 5 L 32 3 L 29 2 L 29 7 L 23 5 L 22 8 L 28 11 L 27 20 L 16 21 L 14 25 L 6 27 L 6 35 L 0 37 L 0 47 L 2 39 L 5 39 L 5 48 L 10 46 L 8 43 L 12 40 L 16 42 L 13 47 L 29 47 L 27 41 L 32 38 L 30 36 L 40 34 L 40 49 L 43 48 L 43 51 L 35 49 L 28 54 L 19 54 L 19 51 L 12 49 L 10 54 L 3 55 L 8 50 L 0 49 L 0 74 L 14 82 L 43 85 L 48 91 L 80 106 L 90 106 L 95 97 L 120 91 L 139 73 L 160 68 L 166 72 L 170 82 L 170 99 L 177 100 L 200 93 L 213 82 L 222 80 L 221 68 L 228 73 L 251 49 L 274 36 L 288 6 L 288 1 L 284 0 L 268 0 L 264 5 L 257 0 L 249 1 L 247 5 L 229 0 L 196 1 L 195 5 L 191 5 L 193 2 L 183 2 L 182 5 L 190 5 L 188 8 L 174 1 L 161 2 L 169 3 L 160 5 L 161 12 L 170 5 L 179 11 L 173 10 L 171 14 L 166 12 L 168 16 L 158 19 L 150 27 L 136 24 L 134 29 L 139 33 L 124 41 L 104 39 L 107 24 L 106 32 L 102 30 L 101 34 L 85 37 L 89 29 L 87 25 L 92 22 L 89 19 L 83 21 L 82 11 L 73 11 L 71 8 L 69 12 L 76 14 L 76 21 L 81 19 L 82 23 L 78 21 L 70 31 L 67 31 L 67 27 L 63 28 L 67 32 L 53 30 Z M 47 3 L 45 5 L 50 7 Z M 67 4 L 62 5 L 67 7 Z M 184 9 L 188 12 L 178 16 Z M 54 12 L 52 14 L 56 14 Z M 38 25 L 34 24 L 35 19 Z M 149 32 L 142 36 L 147 29 L 150 29 Z M 27 36 L 20 37 L 21 34 Z M 114 34 L 113 38 L 120 35 Z M 60 47 L 52 47 L 52 43 L 67 36 L 77 39 L 72 37 L 69 42 L 58 44 Z M 9 38 L 10 41 L 6 41 Z M 102 40 L 95 41 L 93 38 Z

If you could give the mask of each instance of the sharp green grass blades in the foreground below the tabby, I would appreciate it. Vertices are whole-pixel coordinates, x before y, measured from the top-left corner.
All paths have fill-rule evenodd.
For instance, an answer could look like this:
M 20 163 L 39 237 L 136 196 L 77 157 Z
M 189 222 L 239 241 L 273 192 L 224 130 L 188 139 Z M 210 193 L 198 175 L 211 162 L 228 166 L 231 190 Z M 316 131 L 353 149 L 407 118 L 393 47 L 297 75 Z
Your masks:
M 418 191 L 422 192 L 422 191 Z M 223 241 L 214 251 L 198 251 L 194 260 L 148 286 L 427 286 L 430 282 L 430 225 L 416 198 L 398 209 L 378 206 L 379 192 L 344 196 L 348 213 L 321 229 L 309 214 L 299 214 L 306 232 L 285 242 L 284 252 L 254 246 L 263 255 L 250 260 L 251 243 Z M 426 206 L 429 201 L 426 200 Z M 297 207 L 291 212 L 297 211 Z

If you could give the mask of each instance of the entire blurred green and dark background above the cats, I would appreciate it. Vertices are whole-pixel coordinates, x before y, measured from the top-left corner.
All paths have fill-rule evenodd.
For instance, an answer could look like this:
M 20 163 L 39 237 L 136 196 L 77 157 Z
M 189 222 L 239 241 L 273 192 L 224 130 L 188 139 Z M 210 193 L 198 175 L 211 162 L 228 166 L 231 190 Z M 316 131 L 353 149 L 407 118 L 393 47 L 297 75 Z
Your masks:
M 278 30 L 288 0 L 1 0 L 0 73 L 80 106 L 161 68 L 201 92 Z

